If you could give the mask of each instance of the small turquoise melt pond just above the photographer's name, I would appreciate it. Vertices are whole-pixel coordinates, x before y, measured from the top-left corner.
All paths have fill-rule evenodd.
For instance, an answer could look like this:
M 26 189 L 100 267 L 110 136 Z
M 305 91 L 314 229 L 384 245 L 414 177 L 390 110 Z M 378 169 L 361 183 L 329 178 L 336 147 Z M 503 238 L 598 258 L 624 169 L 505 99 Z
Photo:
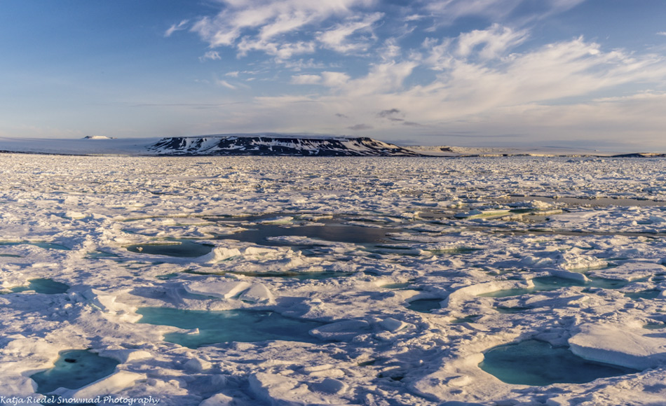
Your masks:
M 118 361 L 85 350 L 62 351 L 55 366 L 31 378 L 37 392 L 46 394 L 57 388 L 78 389 L 114 373 Z

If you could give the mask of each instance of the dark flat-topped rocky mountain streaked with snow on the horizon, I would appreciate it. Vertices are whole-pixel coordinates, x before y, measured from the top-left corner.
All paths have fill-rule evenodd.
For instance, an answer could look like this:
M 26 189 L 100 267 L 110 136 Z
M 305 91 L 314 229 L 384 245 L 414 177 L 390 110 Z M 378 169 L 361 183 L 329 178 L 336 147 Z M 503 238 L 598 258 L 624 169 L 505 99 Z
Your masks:
M 286 136 L 165 138 L 149 146 L 158 155 L 420 156 L 376 139 Z

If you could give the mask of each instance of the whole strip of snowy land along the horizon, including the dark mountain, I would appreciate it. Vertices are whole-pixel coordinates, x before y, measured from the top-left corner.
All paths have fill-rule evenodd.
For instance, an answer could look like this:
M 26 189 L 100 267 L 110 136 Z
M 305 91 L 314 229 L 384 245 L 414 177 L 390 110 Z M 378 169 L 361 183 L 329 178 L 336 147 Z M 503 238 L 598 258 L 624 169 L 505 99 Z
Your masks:
M 597 151 L 555 147 L 398 146 L 368 137 L 298 134 L 214 134 L 194 137 L 124 138 L 91 135 L 83 139 L 0 137 L 0 153 L 55 155 L 259 155 L 259 156 L 438 156 L 438 157 L 618 157 L 664 158 L 663 153 Z

